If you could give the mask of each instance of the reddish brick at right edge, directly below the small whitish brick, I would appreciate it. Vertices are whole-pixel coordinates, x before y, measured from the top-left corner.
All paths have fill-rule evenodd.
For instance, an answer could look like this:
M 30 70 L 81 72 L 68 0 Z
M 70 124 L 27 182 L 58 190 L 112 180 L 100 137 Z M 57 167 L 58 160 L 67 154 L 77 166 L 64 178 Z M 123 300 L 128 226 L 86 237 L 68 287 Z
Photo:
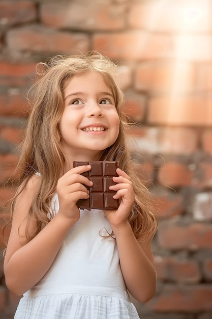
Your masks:
M 171 222 L 163 222 L 158 229 L 158 243 L 165 249 L 211 249 L 211 238 L 211 224 L 193 223 L 180 226 Z

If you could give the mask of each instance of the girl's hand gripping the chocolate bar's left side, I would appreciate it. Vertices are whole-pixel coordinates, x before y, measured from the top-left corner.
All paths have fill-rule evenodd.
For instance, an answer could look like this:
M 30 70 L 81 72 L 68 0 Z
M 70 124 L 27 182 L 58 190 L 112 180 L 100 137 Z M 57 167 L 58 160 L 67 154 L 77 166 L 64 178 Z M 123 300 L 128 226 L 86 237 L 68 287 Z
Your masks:
M 57 214 L 63 214 L 64 217 L 75 220 L 75 222 L 79 220 L 80 212 L 76 202 L 79 199 L 89 198 L 89 191 L 85 185 L 88 187 L 93 185 L 93 182 L 81 175 L 81 173 L 90 169 L 90 165 L 78 166 L 72 168 L 58 179 L 56 191 L 59 200 L 59 210 Z

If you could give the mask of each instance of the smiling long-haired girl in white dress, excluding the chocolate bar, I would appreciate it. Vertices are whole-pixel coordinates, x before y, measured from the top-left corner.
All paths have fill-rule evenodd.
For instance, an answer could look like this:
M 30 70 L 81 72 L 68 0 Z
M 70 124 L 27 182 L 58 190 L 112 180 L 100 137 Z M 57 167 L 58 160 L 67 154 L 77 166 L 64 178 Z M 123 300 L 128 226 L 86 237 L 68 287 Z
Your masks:
M 17 319 L 139 318 L 155 294 L 148 191 L 133 171 L 117 67 L 95 52 L 54 57 L 34 85 L 5 256 Z M 117 210 L 79 209 L 92 186 L 73 161 L 118 161 Z

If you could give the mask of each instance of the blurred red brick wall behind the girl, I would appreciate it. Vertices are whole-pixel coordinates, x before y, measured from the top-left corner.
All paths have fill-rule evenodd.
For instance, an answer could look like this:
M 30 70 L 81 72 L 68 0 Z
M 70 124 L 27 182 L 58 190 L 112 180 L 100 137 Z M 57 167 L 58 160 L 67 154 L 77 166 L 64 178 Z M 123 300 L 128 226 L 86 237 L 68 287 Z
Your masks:
M 1 0 L 0 183 L 17 161 L 35 66 L 94 49 L 118 60 L 138 173 L 154 194 L 157 293 L 146 319 L 212 318 L 212 3 L 210 0 Z M 13 190 L 0 190 L 1 207 Z M 3 220 L 1 220 L 3 224 Z M 1 241 L 1 246 L 3 243 Z M 18 298 L 5 287 L 0 316 Z

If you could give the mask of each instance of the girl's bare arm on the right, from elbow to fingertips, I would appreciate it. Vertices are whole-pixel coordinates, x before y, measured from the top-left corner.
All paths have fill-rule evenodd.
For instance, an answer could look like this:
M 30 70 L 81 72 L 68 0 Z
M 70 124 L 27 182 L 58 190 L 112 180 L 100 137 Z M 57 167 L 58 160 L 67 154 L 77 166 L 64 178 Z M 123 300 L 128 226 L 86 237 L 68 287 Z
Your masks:
M 130 294 L 139 302 L 150 300 L 156 290 L 156 271 L 150 243 L 139 243 L 128 222 L 134 204 L 134 191 L 130 177 L 117 169 L 118 177 L 113 177 L 116 185 L 115 199 L 120 199 L 117 210 L 105 211 L 110 222 L 118 247 L 120 267 Z

